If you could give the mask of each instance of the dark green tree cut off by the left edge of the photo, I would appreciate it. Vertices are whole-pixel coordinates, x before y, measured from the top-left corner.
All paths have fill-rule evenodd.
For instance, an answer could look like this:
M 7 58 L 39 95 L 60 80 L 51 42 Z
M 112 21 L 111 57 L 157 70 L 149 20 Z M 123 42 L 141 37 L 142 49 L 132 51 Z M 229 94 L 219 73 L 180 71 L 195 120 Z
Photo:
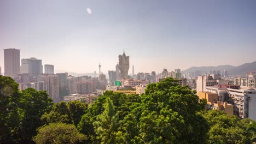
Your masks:
M 20 123 L 24 119 L 24 110 L 19 108 L 21 93 L 10 77 L 0 75 L 0 143 L 17 140 Z

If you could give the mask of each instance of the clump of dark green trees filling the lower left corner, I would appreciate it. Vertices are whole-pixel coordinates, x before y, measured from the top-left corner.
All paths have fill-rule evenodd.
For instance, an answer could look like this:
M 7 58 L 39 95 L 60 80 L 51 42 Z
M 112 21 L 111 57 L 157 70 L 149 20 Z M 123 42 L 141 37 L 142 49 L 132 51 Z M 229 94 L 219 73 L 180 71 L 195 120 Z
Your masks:
M 0 143 L 30 143 L 40 117 L 53 105 L 45 91 L 28 88 L 22 92 L 18 83 L 0 76 Z

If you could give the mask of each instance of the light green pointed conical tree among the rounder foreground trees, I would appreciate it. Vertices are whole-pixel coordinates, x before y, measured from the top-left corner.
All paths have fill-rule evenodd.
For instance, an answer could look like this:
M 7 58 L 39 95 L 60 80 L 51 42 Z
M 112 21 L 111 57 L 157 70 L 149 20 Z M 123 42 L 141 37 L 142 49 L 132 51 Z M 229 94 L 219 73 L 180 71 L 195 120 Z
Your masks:
M 104 111 L 97 116 L 97 121 L 93 123 L 97 139 L 101 143 L 118 143 L 120 141 L 120 131 L 118 132 L 118 113 L 115 112 L 112 100 L 106 99 Z M 119 139 L 120 138 L 120 139 Z

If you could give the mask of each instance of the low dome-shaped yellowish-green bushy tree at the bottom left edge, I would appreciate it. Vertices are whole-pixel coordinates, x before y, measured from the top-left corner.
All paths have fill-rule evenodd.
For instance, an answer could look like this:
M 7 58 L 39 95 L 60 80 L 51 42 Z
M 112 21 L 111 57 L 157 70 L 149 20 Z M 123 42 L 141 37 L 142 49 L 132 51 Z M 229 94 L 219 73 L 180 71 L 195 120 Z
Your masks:
M 80 134 L 73 124 L 50 123 L 38 129 L 33 141 L 44 143 L 83 143 L 87 137 Z

